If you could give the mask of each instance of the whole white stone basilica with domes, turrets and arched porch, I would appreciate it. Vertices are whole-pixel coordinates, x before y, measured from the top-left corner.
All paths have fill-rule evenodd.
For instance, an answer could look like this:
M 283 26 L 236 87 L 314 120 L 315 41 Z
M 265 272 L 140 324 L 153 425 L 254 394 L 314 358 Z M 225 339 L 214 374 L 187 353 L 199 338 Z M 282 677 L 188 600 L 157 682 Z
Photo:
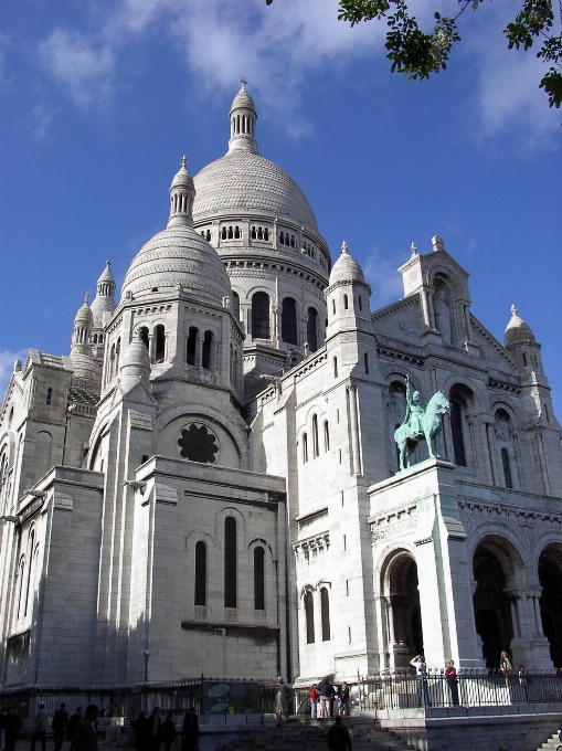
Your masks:
M 499 342 L 433 237 L 371 309 L 299 188 L 257 152 L 182 160 L 119 302 L 30 350 L 0 414 L 0 688 L 407 664 L 562 667 L 562 451 L 541 347 Z M 397 473 L 405 382 L 443 459 Z M 145 653 L 148 652 L 148 655 Z

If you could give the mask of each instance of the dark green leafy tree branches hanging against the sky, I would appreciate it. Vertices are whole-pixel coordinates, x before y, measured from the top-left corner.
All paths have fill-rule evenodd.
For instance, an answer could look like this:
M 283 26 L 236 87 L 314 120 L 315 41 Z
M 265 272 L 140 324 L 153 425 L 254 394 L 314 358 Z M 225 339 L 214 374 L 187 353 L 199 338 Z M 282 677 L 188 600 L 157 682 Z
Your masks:
M 508 47 L 529 50 L 540 40 L 542 46 L 537 53 L 550 63 L 548 73 L 540 83 L 551 107 L 562 104 L 562 34 L 552 33 L 554 10 L 552 0 L 520 0 L 521 10 L 503 30 Z M 273 0 L 266 0 L 271 6 Z M 386 21 L 388 57 L 391 72 L 405 73 L 410 78 L 428 78 L 447 67 L 447 60 L 454 42 L 460 41 L 457 30 L 458 18 L 468 9 L 477 10 L 484 0 L 458 0 L 456 15 L 435 13 L 432 32 L 423 31 L 407 8 L 406 0 L 340 0 L 338 19 L 354 27 L 361 21 L 373 19 Z M 562 0 L 558 0 L 562 17 Z

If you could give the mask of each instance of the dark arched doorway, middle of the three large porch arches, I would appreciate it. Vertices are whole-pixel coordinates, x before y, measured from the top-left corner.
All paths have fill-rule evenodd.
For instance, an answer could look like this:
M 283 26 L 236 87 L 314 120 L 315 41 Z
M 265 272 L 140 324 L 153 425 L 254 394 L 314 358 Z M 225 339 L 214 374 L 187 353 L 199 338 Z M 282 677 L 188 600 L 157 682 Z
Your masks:
M 488 668 L 499 667 L 501 652 L 509 650 L 517 618 L 517 584 L 510 543 L 489 536 L 473 559 L 476 590 L 473 597 L 476 631 L 483 641 Z

